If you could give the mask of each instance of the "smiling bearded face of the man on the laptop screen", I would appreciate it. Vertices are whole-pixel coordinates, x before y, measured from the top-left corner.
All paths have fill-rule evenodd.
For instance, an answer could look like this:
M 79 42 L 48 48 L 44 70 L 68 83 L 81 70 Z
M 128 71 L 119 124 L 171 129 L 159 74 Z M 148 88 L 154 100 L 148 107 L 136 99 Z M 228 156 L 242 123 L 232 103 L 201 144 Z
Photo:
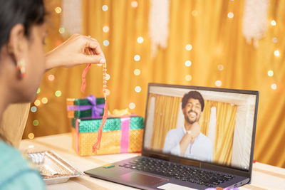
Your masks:
M 199 100 L 190 98 L 187 102 L 187 105 L 183 108 L 182 111 L 183 111 L 185 120 L 189 122 L 190 124 L 193 124 L 199 121 L 199 118 L 202 113 L 201 104 Z

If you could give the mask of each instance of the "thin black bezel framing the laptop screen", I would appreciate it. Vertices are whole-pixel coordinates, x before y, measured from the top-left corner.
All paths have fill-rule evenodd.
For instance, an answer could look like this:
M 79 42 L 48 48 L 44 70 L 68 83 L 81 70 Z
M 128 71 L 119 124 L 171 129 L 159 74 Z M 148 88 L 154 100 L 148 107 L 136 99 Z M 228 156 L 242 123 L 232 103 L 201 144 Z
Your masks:
M 252 176 L 252 163 L 253 163 L 253 154 L 254 154 L 254 141 L 255 141 L 255 132 L 256 132 L 256 125 L 257 125 L 257 109 L 258 109 L 258 102 L 259 102 L 259 91 L 256 90 L 237 90 L 237 89 L 228 89 L 228 88 L 209 88 L 209 87 L 203 87 L 203 86 L 187 86 L 187 85 L 170 85 L 170 84 L 162 84 L 162 83 L 149 83 L 147 88 L 147 102 L 149 98 L 150 93 L 150 87 L 169 87 L 169 88 L 183 88 L 183 89 L 189 89 L 189 90 L 207 90 L 207 91 L 216 91 L 216 92 L 223 92 L 223 93 L 240 93 L 240 94 L 248 94 L 248 95 L 256 95 L 256 102 L 255 102 L 255 110 L 254 110 L 254 126 L 252 129 L 252 147 L 250 152 L 250 159 L 249 159 L 249 169 L 244 170 L 237 167 L 231 167 L 231 166 L 224 166 L 222 164 L 218 163 L 212 163 L 212 162 L 202 162 L 198 161 L 196 159 L 190 159 L 185 157 L 179 157 L 172 154 L 165 154 L 162 152 L 155 152 L 150 149 L 145 149 L 145 130 L 143 132 L 143 140 L 142 140 L 142 155 L 147 157 L 155 157 L 159 159 L 165 159 L 169 160 L 171 162 L 176 162 L 180 164 L 187 164 L 192 165 L 195 167 L 201 167 L 204 169 L 214 169 L 217 171 L 227 172 L 230 174 L 237 174 L 240 176 L 247 176 L 249 179 L 251 179 Z M 145 122 L 144 127 L 146 127 L 147 124 L 147 109 L 148 109 L 148 103 L 145 107 Z

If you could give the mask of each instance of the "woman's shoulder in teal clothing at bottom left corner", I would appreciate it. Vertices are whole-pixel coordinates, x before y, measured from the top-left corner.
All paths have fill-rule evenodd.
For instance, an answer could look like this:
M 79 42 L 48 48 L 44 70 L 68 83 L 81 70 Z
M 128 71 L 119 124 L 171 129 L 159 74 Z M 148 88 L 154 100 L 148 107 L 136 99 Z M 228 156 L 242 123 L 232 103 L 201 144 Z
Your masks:
M 21 152 L 1 140 L 0 152 L 0 189 L 45 189 L 40 174 Z

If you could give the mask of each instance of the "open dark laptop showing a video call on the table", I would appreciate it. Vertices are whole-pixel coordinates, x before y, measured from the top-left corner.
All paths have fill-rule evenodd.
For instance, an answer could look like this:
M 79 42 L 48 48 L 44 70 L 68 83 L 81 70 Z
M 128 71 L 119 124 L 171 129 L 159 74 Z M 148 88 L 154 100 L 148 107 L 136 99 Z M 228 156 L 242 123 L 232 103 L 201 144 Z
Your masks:
M 149 83 L 141 155 L 85 173 L 138 189 L 249 184 L 258 101 L 253 90 Z

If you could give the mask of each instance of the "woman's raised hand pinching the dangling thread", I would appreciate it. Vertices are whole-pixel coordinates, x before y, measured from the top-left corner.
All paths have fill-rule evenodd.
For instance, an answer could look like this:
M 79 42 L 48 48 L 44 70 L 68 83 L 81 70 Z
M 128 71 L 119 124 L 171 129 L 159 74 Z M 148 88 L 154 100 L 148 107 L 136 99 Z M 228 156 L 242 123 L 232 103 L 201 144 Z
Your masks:
M 86 53 L 86 48 L 89 53 Z M 105 63 L 100 44 L 94 38 L 73 34 L 60 46 L 46 54 L 46 70 L 56 67 L 72 67 L 83 63 Z

